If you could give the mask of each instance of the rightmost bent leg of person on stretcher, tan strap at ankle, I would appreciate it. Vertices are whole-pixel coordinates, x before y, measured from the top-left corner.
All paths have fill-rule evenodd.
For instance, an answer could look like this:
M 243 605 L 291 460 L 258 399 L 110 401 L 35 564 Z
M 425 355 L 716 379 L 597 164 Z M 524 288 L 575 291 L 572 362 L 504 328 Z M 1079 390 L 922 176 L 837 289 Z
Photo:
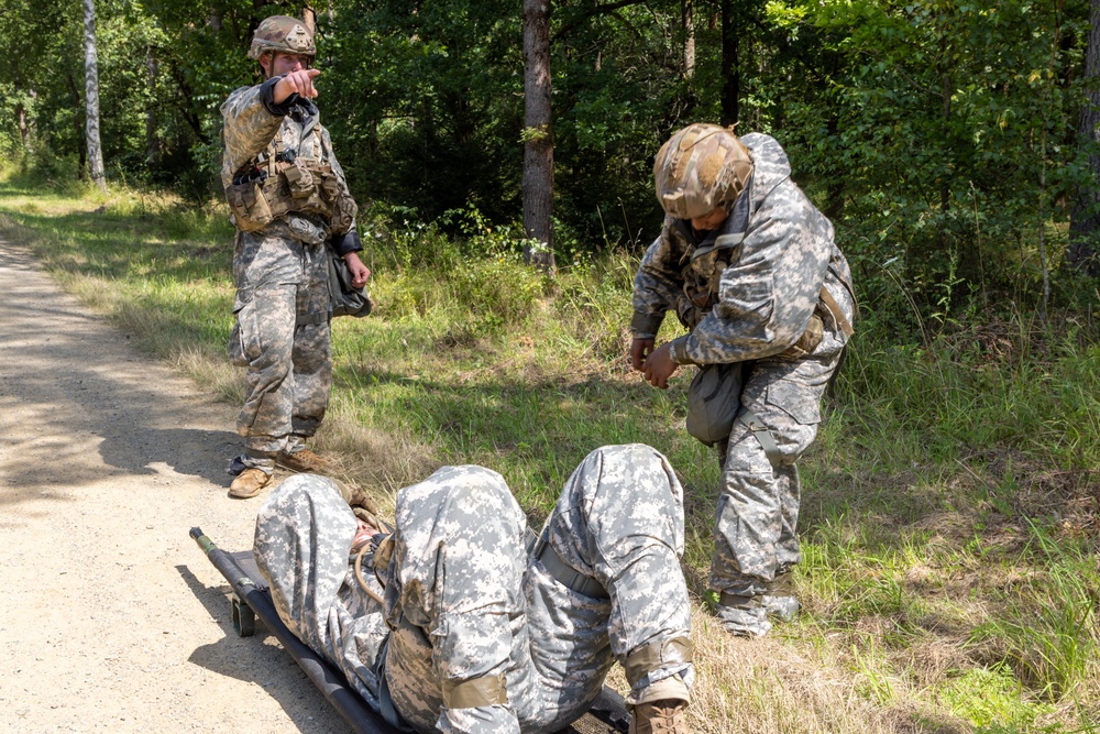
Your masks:
M 576 468 L 527 578 L 536 668 L 559 689 L 548 708 L 583 713 L 615 659 L 626 669 L 629 703 L 688 700 L 683 538 L 683 491 L 654 449 L 604 447 Z

